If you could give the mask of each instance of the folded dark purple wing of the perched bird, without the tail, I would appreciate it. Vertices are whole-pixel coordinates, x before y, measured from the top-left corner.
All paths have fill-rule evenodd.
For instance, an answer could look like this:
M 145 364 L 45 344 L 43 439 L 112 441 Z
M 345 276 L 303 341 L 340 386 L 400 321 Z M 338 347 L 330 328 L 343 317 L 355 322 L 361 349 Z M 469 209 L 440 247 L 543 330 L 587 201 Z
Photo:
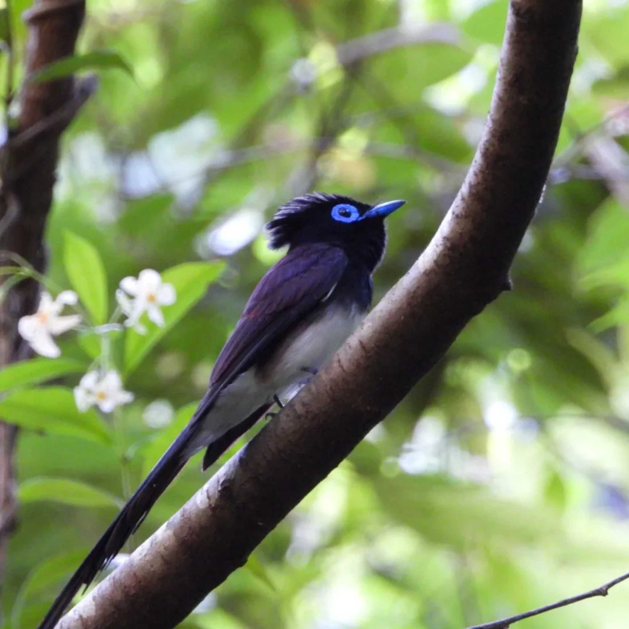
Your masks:
M 324 243 L 297 247 L 277 262 L 249 298 L 210 384 L 226 384 L 264 360 L 277 340 L 333 291 L 346 268 L 345 252 Z

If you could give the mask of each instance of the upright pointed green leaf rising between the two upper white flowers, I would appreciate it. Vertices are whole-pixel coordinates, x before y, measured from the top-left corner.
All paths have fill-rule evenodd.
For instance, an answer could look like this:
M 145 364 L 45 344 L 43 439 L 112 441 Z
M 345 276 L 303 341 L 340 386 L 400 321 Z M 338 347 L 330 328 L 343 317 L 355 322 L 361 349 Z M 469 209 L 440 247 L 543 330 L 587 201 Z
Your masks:
M 107 275 L 96 247 L 72 231 L 65 232 L 64 264 L 74 290 L 96 325 L 107 320 Z

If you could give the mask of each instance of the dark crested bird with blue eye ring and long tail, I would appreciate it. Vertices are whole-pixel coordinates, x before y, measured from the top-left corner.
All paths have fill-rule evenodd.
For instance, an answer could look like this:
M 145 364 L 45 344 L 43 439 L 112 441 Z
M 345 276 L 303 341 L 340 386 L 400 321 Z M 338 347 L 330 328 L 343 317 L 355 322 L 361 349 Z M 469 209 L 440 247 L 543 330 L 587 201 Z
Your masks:
M 370 308 L 384 256 L 384 219 L 403 206 L 369 205 L 312 192 L 279 207 L 269 247 L 287 247 L 262 277 L 221 350 L 187 426 L 155 464 L 53 602 L 38 629 L 52 629 L 82 586 L 120 552 L 192 455 L 208 469 L 274 403 L 316 374 Z

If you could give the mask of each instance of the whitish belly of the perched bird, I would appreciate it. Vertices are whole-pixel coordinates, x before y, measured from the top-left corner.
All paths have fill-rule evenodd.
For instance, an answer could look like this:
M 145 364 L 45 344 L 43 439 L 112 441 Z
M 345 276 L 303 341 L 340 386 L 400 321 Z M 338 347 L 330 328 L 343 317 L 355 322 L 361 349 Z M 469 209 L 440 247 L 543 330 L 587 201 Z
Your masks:
M 307 370 L 324 365 L 359 326 L 365 313 L 330 308 L 292 333 L 262 369 L 252 367 L 221 392 L 191 443 L 196 452 L 245 420 L 256 409 L 272 403 L 273 396 L 287 396 L 306 381 Z

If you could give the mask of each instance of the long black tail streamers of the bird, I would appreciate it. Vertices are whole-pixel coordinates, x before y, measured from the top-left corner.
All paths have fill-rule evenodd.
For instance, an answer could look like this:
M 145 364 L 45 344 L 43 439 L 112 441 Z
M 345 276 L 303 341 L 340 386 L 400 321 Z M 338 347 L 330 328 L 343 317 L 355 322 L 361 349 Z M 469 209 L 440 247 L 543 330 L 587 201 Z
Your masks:
M 189 444 L 190 426 L 172 443 L 162 458 L 155 464 L 133 496 L 121 509 L 109 528 L 92 548 L 83 563 L 72 575 L 70 581 L 55 599 L 38 629 L 53 629 L 74 595 L 94 580 L 94 577 L 120 552 L 126 540 L 142 524 L 150 508 L 164 493 L 172 480 L 179 474 L 190 457 L 186 447 Z

